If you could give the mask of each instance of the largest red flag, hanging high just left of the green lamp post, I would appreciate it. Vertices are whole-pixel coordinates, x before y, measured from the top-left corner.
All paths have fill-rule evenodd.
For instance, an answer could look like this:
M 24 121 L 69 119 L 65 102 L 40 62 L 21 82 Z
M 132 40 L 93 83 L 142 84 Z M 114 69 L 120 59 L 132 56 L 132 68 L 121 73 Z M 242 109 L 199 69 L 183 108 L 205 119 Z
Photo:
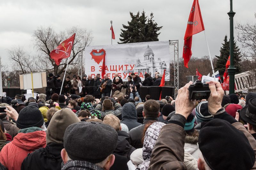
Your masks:
M 191 46 L 192 46 L 192 35 L 204 31 L 204 23 L 201 15 L 200 7 L 198 0 L 194 0 L 189 18 L 186 33 L 184 36 L 184 46 L 183 46 L 183 55 L 184 66 L 188 68 L 188 61 L 192 55 Z

